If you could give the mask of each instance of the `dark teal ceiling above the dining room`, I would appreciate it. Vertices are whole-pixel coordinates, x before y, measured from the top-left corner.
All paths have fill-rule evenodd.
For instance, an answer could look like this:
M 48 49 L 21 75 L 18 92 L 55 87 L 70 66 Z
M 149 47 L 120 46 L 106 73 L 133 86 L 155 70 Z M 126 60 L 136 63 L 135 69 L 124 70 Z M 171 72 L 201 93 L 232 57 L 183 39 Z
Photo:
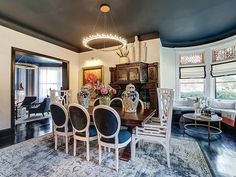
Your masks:
M 236 0 L 1 0 L 0 24 L 82 52 L 104 2 L 130 41 L 160 36 L 163 46 L 186 47 L 236 34 Z

